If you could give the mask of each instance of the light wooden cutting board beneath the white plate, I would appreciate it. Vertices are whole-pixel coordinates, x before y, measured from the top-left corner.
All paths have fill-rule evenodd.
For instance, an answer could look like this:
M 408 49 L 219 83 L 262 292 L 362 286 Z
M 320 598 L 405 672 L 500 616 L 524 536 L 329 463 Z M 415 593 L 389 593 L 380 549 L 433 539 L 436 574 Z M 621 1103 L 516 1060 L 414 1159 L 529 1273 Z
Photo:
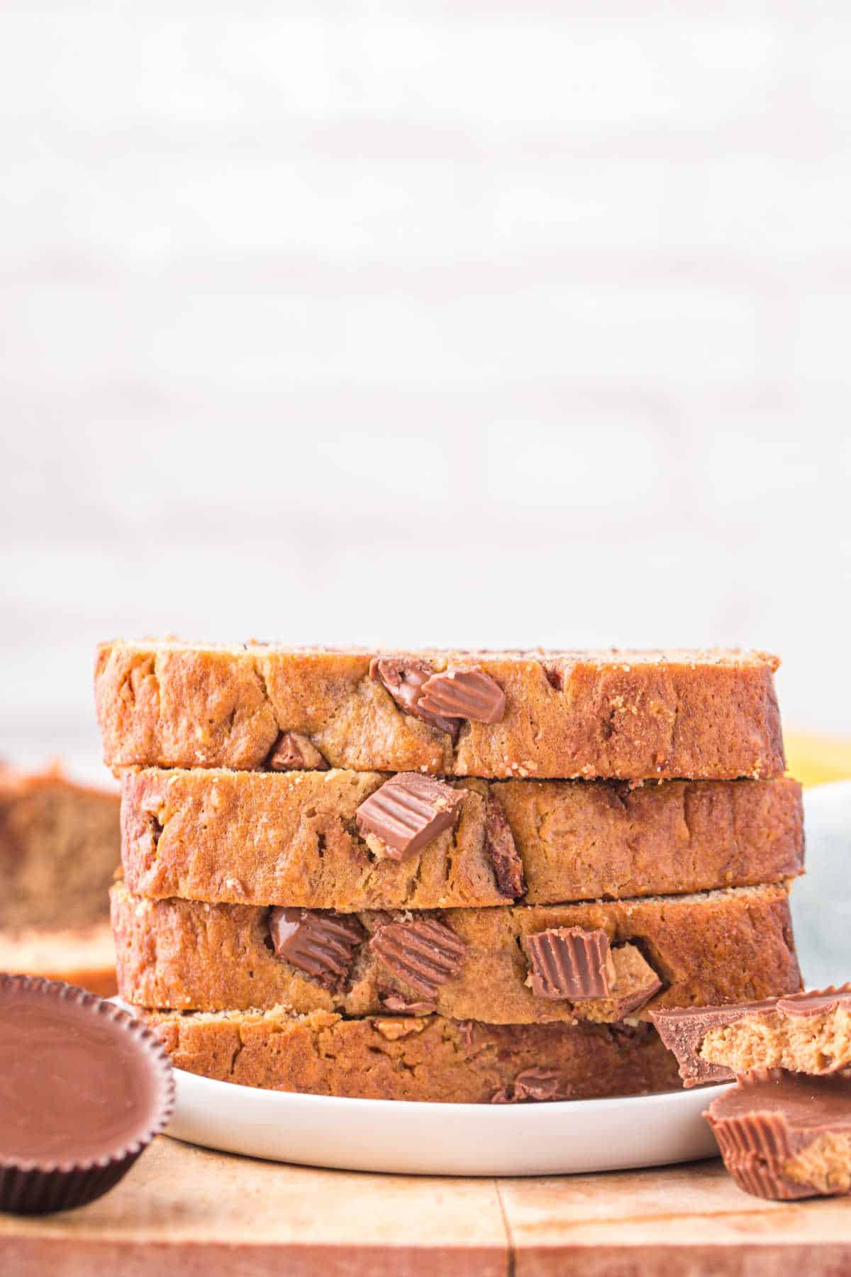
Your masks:
M 762 1202 L 717 1161 L 418 1179 L 281 1166 L 161 1138 L 92 1205 L 0 1216 L 3 1277 L 776 1277 L 794 1268 L 851 1273 L 851 1199 Z

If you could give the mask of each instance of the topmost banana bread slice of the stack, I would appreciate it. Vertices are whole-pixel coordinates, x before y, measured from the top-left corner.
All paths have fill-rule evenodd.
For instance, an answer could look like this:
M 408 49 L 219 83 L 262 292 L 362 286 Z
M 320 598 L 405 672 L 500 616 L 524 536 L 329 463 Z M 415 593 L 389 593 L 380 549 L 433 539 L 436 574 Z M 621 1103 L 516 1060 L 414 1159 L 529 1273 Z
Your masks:
M 764 653 L 722 650 L 378 653 L 119 640 L 97 650 L 94 690 L 115 770 L 254 770 L 277 748 L 278 765 L 296 769 L 301 750 L 353 771 L 760 779 L 785 770 L 777 665 Z

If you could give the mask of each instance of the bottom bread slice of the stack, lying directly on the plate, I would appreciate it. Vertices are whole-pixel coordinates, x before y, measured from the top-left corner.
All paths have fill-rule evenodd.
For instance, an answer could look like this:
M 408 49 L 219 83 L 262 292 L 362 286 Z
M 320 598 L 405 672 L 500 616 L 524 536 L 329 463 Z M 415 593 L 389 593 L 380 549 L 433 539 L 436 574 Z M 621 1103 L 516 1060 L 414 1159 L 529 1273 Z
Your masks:
M 188 1073 L 268 1091 L 366 1099 L 512 1103 L 679 1089 L 649 1024 L 481 1024 L 333 1011 L 137 1014 Z

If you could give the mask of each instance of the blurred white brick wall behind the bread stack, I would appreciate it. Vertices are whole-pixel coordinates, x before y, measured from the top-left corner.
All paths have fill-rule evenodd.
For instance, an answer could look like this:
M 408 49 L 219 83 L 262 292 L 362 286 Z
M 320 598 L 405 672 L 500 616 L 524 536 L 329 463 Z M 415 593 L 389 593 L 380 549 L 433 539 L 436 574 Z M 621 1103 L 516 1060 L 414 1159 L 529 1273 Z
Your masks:
M 851 734 L 847 3 L 0 14 L 0 753 L 166 631 L 764 646 Z

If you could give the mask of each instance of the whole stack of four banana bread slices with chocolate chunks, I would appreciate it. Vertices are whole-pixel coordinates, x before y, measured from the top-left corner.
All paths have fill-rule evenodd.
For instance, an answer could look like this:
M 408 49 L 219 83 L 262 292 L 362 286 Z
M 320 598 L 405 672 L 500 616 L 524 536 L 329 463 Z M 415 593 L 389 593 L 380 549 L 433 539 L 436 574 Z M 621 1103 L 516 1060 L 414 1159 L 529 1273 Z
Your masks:
M 105 644 L 121 996 L 179 1068 L 245 1085 L 679 1087 L 652 1011 L 800 988 L 776 667 Z

